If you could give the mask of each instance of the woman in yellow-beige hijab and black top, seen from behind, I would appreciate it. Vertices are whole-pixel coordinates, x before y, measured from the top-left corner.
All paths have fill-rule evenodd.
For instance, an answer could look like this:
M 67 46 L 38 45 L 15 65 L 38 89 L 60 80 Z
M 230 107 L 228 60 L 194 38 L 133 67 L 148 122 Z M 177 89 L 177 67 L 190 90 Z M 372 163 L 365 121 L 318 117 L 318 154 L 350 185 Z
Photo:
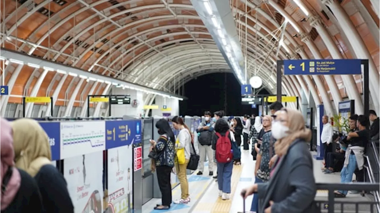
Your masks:
M 47 213 L 73 213 L 74 206 L 63 175 L 51 164 L 49 137 L 37 121 L 27 118 L 11 123 L 17 168 L 37 182 Z

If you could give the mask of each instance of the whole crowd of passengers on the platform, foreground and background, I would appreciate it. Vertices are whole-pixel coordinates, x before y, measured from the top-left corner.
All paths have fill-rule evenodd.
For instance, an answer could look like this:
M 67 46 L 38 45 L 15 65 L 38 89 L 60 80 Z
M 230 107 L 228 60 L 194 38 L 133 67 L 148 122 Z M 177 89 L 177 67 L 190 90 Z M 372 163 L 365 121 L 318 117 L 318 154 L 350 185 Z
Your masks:
M 251 144 L 256 161 L 255 183 L 241 192 L 244 199 L 254 194 L 251 212 L 320 212 L 313 205 L 316 185 L 308 146 L 311 132 L 299 111 L 283 108 L 280 102 L 269 108 L 271 115 L 229 117 L 228 121 L 221 119 L 223 111 L 214 112 L 213 116 L 206 111 L 204 122 L 196 129 L 199 155 L 193 146 L 193 135 L 181 117 L 171 120 L 179 130 L 177 136 L 167 119 L 157 121 L 160 137 L 150 140 L 149 157 L 152 171 L 157 173 L 162 203 L 154 209 L 168 210 L 172 202 L 190 202 L 186 169 L 199 165 L 197 175 L 203 175 L 206 157 L 209 175 L 217 179 L 219 196 L 222 200 L 230 199 L 232 171 L 234 165 L 241 164 L 241 146 L 249 150 Z M 342 183 L 351 182 L 355 173 L 356 181 L 363 182 L 367 143 L 380 139 L 380 119 L 375 111 L 370 110 L 369 116 L 350 116 L 350 132 L 345 136 L 333 134 L 328 116 L 323 116 L 322 121 L 322 171 L 340 171 Z M 25 118 L 8 122 L 0 118 L 0 126 L 0 213 L 74 212 L 67 183 L 51 164 L 49 138 L 38 122 Z M 174 201 L 171 172 L 177 175 L 181 189 L 180 198 Z M 347 193 L 336 191 L 335 196 L 345 197 Z M 258 205 L 259 199 L 263 205 Z

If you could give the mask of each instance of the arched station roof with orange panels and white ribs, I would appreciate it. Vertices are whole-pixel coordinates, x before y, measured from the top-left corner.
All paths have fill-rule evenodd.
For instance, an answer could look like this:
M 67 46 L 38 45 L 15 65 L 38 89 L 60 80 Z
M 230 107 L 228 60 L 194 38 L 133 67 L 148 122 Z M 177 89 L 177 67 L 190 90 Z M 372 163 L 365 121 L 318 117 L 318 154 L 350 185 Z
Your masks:
M 369 58 L 370 99 L 380 113 L 380 8 L 374 1 L 230 0 L 249 76 L 259 75 L 274 92 L 276 60 Z M 0 8 L 2 47 L 28 55 L 165 92 L 203 74 L 231 72 L 190 0 L 0 0 Z M 9 61 L 4 67 L 11 96 L 1 97 L 1 116 L 22 96 L 53 96 L 70 115 L 87 104 L 87 94 L 112 87 Z M 363 109 L 360 75 L 286 76 L 282 86 L 291 96 L 310 92 L 328 114 L 347 98 Z M 146 94 L 145 102 L 153 97 Z

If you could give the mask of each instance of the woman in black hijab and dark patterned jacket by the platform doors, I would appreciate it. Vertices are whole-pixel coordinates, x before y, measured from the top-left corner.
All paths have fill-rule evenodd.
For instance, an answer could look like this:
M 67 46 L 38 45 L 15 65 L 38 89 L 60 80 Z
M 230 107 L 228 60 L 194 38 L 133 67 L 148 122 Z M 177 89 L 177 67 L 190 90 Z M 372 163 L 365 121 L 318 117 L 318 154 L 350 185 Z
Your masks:
M 158 186 L 160 186 L 162 204 L 154 207 L 155 210 L 168 210 L 171 204 L 170 172 L 174 167 L 174 133 L 169 122 L 160 119 L 156 123 L 160 138 L 156 141 L 150 140 L 150 151 L 156 153 L 154 159 L 157 171 Z

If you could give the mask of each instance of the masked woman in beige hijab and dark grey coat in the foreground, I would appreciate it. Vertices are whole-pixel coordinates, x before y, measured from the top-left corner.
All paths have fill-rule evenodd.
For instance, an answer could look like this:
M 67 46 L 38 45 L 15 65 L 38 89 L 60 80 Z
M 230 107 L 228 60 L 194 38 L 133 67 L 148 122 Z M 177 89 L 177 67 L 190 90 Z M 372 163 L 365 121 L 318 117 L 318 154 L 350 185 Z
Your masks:
M 277 139 L 274 149 L 279 158 L 271 171 L 271 179 L 266 183 L 255 183 L 242 191 L 244 199 L 256 193 L 263 201 L 257 212 L 318 211 L 313 205 L 317 188 L 313 160 L 307 146 L 311 132 L 304 124 L 299 111 L 282 109 L 277 113 L 272 123 L 272 136 Z

